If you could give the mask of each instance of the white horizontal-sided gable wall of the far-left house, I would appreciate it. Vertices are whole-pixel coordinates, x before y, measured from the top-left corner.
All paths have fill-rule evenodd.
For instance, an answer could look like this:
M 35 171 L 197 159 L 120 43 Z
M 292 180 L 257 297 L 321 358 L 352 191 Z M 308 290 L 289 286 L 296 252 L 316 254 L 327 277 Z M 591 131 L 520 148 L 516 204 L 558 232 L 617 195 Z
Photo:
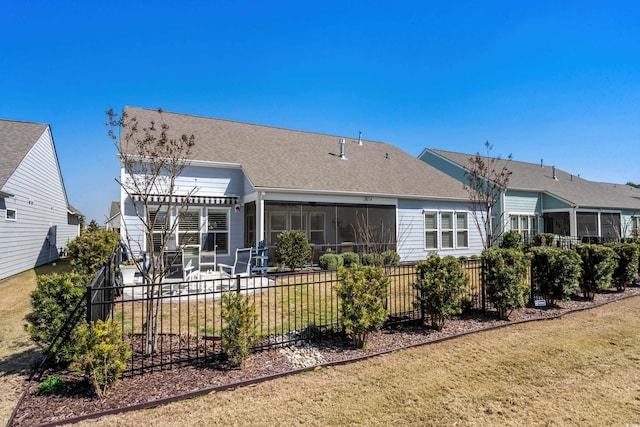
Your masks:
M 2 191 L 14 196 L 0 199 L 0 279 L 58 259 L 60 249 L 78 236 L 49 128 Z M 16 210 L 15 221 L 6 219 L 7 209 Z

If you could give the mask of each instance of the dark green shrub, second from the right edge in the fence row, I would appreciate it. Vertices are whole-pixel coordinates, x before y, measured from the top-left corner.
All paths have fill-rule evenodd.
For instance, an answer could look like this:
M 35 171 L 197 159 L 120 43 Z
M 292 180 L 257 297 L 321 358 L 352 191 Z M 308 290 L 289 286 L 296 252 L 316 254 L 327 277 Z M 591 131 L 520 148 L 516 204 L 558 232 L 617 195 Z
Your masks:
M 576 252 L 582 260 L 580 290 L 585 298 L 593 300 L 595 293 L 611 286 L 616 268 L 616 253 L 603 245 L 579 244 Z

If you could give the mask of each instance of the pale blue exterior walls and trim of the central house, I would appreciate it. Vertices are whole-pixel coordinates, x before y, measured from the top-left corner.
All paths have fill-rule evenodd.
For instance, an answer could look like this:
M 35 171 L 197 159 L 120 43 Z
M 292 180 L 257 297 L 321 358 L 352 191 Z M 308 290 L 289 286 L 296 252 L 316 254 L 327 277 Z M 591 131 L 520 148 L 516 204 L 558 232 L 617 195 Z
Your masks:
M 121 173 L 124 173 L 122 171 Z M 124 176 L 123 176 L 124 178 Z M 335 204 L 338 206 L 352 206 L 352 205 L 368 205 L 368 206 L 392 206 L 395 210 L 395 235 L 397 250 L 400 254 L 402 261 L 414 261 L 419 259 L 425 259 L 429 254 L 433 253 L 432 250 L 425 248 L 425 229 L 424 229 L 424 210 L 436 210 L 436 211 L 448 211 L 448 212 L 466 212 L 467 227 L 469 243 L 464 248 L 454 249 L 442 249 L 437 252 L 441 255 L 477 255 L 482 251 L 482 240 L 480 238 L 479 231 L 474 223 L 473 216 L 469 211 L 468 201 L 450 202 L 450 201 L 418 201 L 418 200 L 399 200 L 393 197 L 365 197 L 358 195 L 345 195 L 339 193 L 308 193 L 304 191 L 282 191 L 275 189 L 262 189 L 254 188 L 250 180 L 246 177 L 244 172 L 240 168 L 216 168 L 213 166 L 198 166 L 189 167 L 185 169 L 183 175 L 179 178 L 178 184 L 183 190 L 187 192 L 189 189 L 197 185 L 199 191 L 196 195 L 234 195 L 239 196 L 241 203 L 236 210 L 235 206 L 228 206 L 229 221 L 230 221 L 230 234 L 229 234 L 229 247 L 228 254 L 218 254 L 217 261 L 219 263 L 232 264 L 235 255 L 235 248 L 241 248 L 245 246 L 245 224 L 244 224 L 244 210 L 245 203 L 256 202 L 255 218 L 257 222 L 261 224 L 256 225 L 256 234 L 259 234 L 260 226 L 265 230 L 263 238 L 270 239 L 269 235 L 266 235 L 268 231 L 269 215 L 272 212 L 277 211 L 277 208 L 273 207 L 274 202 L 280 202 L 283 204 L 291 203 L 305 203 L 313 204 L 318 203 L 318 206 L 322 204 Z M 139 202 L 138 202 L 139 203 Z M 271 206 L 268 210 L 264 210 L 264 206 Z M 132 251 L 134 254 L 141 254 L 146 250 L 145 238 L 140 220 L 136 217 L 134 212 L 133 202 L 126 196 L 124 191 L 122 192 L 121 199 L 123 221 L 126 223 L 126 227 L 121 230 L 123 239 L 126 239 L 127 234 L 130 238 Z M 191 205 L 195 206 L 195 205 Z M 259 208 L 262 206 L 262 211 Z M 306 210 L 313 209 L 309 206 L 305 207 Z M 320 208 L 319 208 L 320 209 Z M 328 209 L 326 206 L 322 209 Z M 204 210 L 202 211 L 202 224 L 204 224 Z M 261 214 L 264 217 L 261 218 Z M 326 212 L 326 232 L 335 232 L 332 221 L 335 220 L 334 210 Z M 138 243 L 139 242 L 139 243 Z M 330 243 L 330 242 L 329 242 Z M 275 242 L 269 241 L 268 244 L 273 246 Z

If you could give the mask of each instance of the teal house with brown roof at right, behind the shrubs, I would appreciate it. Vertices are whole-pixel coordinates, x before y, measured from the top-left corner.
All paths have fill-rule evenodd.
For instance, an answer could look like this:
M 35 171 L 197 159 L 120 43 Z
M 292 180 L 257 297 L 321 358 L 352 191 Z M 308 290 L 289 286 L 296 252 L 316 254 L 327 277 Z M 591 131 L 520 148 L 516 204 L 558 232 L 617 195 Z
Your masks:
M 466 182 L 471 154 L 425 149 L 425 163 Z M 570 242 L 611 241 L 640 230 L 640 190 L 624 184 L 582 179 L 555 166 L 503 160 L 512 172 L 507 191 L 493 212 L 502 230 L 525 240 L 553 233 Z M 502 163 L 501 163 L 502 164 Z

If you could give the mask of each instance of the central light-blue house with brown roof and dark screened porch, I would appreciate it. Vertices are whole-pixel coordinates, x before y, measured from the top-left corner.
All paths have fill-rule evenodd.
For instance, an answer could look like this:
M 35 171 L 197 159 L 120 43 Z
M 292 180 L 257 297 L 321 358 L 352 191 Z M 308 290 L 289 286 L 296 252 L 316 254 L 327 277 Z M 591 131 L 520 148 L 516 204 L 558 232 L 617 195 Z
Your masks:
M 144 127 L 161 122 L 154 110 L 125 111 Z M 195 137 L 178 185 L 182 195 L 197 192 L 174 240 L 191 233 L 203 258 L 215 250 L 218 262 L 233 263 L 236 248 L 265 239 L 272 263 L 277 236 L 287 230 L 307 235 L 316 262 L 327 252 L 372 246 L 396 249 L 402 261 L 481 252 L 462 185 L 393 145 L 167 112 L 162 121 L 173 137 Z M 141 253 L 149 239 L 136 231 L 140 197 L 132 198 L 121 191 L 121 235 Z

